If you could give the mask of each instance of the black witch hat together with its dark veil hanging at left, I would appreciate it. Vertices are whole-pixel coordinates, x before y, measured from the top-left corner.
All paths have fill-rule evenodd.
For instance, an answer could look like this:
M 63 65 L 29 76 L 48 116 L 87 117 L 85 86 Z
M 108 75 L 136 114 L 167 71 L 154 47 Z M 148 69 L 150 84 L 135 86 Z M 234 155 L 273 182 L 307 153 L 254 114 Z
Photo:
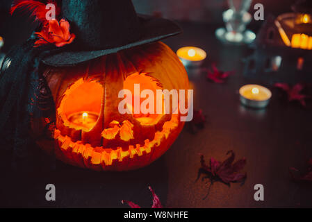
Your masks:
M 38 160 L 38 150 L 31 149 L 28 133 L 31 119 L 55 118 L 54 101 L 42 76 L 43 63 L 72 66 L 181 33 L 179 26 L 167 19 L 137 15 L 131 0 L 60 2 L 58 20 L 67 20 L 74 41 L 61 47 L 38 46 L 40 35 L 32 35 L 24 44 L 10 50 L 0 69 L 0 148 L 7 148 L 13 155 L 13 165 L 23 169 Z M 46 8 L 40 1 L 19 1 L 19 6 Z M 45 19 L 42 14 L 38 13 Z M 49 22 L 45 21 L 42 30 Z M 53 123 L 54 119 L 50 121 Z M 20 159 L 28 161 L 19 164 Z

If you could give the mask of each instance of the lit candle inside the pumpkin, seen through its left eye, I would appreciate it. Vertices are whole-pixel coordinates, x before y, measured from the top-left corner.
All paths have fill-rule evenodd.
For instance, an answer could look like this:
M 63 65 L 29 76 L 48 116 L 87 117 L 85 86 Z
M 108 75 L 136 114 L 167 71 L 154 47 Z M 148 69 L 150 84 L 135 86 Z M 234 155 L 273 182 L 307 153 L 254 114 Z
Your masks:
M 69 115 L 68 120 L 76 126 L 92 129 L 98 118 L 98 114 L 93 112 L 74 112 Z

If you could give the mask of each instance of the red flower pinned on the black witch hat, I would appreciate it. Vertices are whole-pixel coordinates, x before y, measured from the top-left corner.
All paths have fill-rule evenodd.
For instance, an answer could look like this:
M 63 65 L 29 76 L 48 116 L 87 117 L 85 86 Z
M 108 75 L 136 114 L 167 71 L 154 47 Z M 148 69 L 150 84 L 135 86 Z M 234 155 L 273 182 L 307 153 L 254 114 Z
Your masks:
M 40 38 L 35 42 L 35 47 L 42 44 L 55 44 L 57 47 L 62 47 L 71 44 L 76 38 L 76 35 L 69 32 L 69 22 L 65 19 L 61 19 L 60 22 L 50 20 L 40 33 L 35 34 Z

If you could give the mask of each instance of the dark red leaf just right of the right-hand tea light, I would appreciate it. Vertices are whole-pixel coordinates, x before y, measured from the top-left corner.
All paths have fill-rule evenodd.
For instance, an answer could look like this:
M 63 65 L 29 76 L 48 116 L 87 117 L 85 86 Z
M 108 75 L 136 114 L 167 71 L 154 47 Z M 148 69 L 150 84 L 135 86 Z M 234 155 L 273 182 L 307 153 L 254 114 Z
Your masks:
M 301 105 L 306 106 L 305 99 L 309 96 L 300 93 L 304 89 L 302 83 L 297 83 L 293 87 L 290 87 L 287 83 L 275 83 L 274 86 L 283 89 L 287 93 L 288 101 L 299 101 Z

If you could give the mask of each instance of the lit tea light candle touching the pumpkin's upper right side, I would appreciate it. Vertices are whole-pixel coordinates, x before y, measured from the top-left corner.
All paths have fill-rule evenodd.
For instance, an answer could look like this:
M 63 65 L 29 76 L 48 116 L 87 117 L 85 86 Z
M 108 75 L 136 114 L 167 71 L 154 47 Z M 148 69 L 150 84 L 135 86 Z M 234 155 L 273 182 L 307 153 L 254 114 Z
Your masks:
M 183 47 L 176 51 L 184 66 L 197 67 L 202 65 L 202 62 L 207 57 L 207 53 L 197 47 Z

